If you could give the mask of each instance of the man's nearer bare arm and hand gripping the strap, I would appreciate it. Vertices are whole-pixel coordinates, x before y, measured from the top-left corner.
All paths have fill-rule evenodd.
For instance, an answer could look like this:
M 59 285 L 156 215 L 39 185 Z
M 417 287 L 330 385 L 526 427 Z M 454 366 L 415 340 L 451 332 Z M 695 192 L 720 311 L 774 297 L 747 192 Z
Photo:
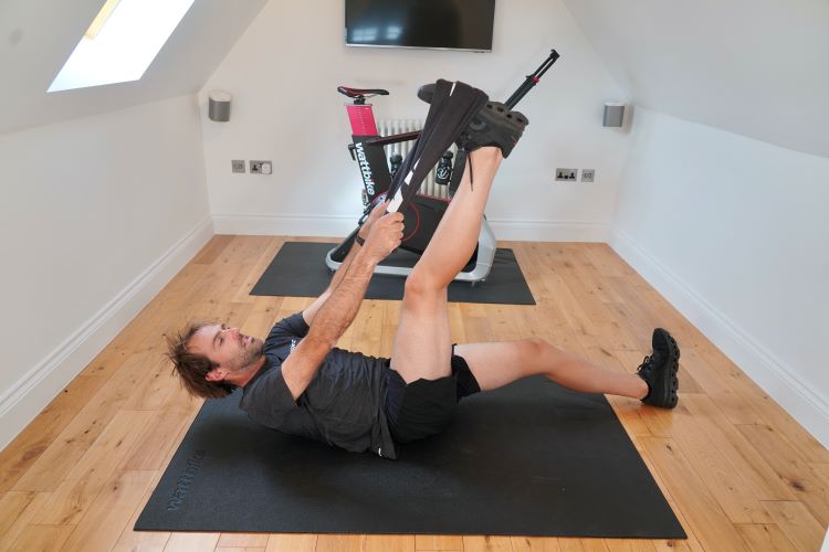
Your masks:
M 377 263 L 400 245 L 402 220 L 401 213 L 389 213 L 371 226 L 365 245 L 355 247 L 340 282 L 314 316 L 307 336 L 282 363 L 282 376 L 294 400 L 305 392 L 325 357 L 354 321 Z

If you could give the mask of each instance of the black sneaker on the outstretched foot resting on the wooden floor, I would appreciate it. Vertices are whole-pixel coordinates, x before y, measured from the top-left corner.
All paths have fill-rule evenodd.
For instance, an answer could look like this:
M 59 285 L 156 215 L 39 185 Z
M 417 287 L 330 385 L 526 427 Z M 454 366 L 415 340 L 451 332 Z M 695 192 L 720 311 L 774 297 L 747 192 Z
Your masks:
M 676 406 L 680 381 L 676 372 L 680 369 L 680 347 L 668 330 L 657 328 L 652 338 L 653 352 L 639 365 L 637 374 L 648 383 L 648 396 L 644 404 L 673 408 Z

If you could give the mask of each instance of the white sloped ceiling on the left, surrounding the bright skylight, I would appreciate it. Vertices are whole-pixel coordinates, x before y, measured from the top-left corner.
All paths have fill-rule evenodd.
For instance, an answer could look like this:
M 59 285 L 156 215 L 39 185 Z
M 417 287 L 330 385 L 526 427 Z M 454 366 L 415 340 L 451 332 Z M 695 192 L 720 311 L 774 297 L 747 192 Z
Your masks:
M 0 135 L 198 92 L 267 0 L 196 0 L 140 81 L 46 94 L 104 1 L 0 1 Z

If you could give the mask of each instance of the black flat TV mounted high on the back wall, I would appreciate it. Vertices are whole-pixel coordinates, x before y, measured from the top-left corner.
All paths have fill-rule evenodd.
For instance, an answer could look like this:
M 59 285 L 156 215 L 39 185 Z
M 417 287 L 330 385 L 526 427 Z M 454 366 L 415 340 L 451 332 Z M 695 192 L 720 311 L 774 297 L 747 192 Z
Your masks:
M 495 0 L 345 0 L 349 46 L 492 51 Z

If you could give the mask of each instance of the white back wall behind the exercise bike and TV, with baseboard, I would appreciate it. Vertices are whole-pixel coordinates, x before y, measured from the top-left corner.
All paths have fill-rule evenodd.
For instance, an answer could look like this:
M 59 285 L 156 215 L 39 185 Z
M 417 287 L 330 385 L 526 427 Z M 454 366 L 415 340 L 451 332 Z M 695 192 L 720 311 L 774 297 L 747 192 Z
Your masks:
M 344 235 L 361 211 L 338 85 L 382 87 L 378 117 L 422 118 L 417 88 L 438 77 L 505 99 L 555 47 L 559 62 L 518 106 L 529 117 L 487 214 L 501 238 L 608 237 L 627 135 L 601 127 L 622 91 L 558 0 L 496 2 L 493 53 L 346 47 L 343 2 L 270 2 L 204 85 L 233 95 L 229 123 L 203 115 L 211 211 L 221 233 Z M 270 177 L 231 159 L 271 159 Z M 592 168 L 595 184 L 554 183 L 556 167 Z

